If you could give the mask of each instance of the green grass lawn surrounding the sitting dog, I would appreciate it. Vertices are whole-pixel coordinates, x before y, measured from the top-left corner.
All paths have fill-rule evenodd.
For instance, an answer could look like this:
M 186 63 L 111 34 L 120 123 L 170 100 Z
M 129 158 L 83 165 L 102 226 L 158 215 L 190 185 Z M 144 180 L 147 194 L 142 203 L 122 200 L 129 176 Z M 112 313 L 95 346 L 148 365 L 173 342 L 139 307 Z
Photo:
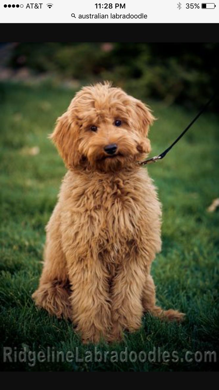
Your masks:
M 44 226 L 55 206 L 65 173 L 47 139 L 74 91 L 49 87 L 0 86 L 1 259 L 0 337 L 2 346 L 30 351 L 75 351 L 86 356 L 70 322 L 38 311 L 31 294 L 42 268 Z M 195 112 L 148 102 L 158 121 L 151 129 L 153 153 L 166 148 Z M 4 371 L 215 371 L 216 363 L 183 362 L 185 351 L 218 352 L 218 222 L 207 207 L 219 197 L 219 118 L 205 113 L 163 161 L 148 167 L 163 204 L 162 252 L 152 266 L 157 300 L 163 308 L 186 313 L 183 324 L 162 323 L 146 315 L 142 328 L 124 342 L 97 348 L 104 352 L 177 351 L 178 362 L 25 362 L 2 363 Z M 28 154 L 38 146 L 39 154 Z M 1 351 L 2 352 L 2 351 Z M 2 355 L 2 353 L 1 353 Z M 113 355 L 114 356 L 114 355 Z M 189 356 L 190 357 L 190 356 Z M 88 359 L 89 360 L 89 359 Z

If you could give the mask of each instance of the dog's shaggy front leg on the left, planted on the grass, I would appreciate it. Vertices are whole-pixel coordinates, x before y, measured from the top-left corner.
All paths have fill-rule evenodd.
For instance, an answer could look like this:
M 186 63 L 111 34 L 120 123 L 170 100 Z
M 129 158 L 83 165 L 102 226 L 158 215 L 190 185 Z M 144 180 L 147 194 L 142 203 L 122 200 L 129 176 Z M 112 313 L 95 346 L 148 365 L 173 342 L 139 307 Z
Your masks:
M 109 275 L 99 259 L 68 260 L 72 321 L 83 342 L 106 338 L 111 326 Z

